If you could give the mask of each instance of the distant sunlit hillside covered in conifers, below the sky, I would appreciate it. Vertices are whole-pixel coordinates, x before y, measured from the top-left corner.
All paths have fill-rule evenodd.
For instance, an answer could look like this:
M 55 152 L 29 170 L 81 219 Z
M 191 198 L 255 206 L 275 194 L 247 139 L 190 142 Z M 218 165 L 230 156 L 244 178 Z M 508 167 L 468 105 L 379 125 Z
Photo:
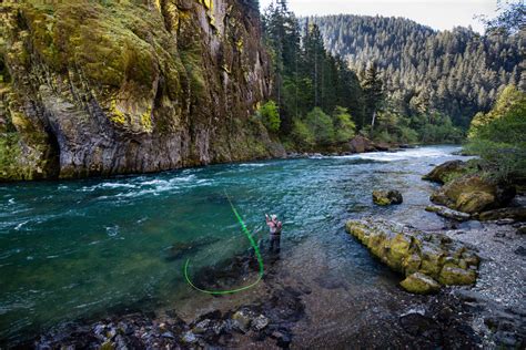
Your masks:
M 465 128 L 508 84 L 526 87 L 526 34 L 435 31 L 403 18 L 313 17 L 325 48 L 363 74 L 375 63 L 396 109 L 406 116 L 439 112 Z

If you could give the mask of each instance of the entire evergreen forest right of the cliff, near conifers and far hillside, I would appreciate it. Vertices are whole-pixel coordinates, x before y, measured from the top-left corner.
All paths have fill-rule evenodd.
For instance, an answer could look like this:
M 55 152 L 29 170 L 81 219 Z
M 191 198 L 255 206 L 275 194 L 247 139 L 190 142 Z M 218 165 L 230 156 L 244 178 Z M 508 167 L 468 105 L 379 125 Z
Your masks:
M 524 32 L 437 32 L 411 20 L 262 13 L 272 101 L 257 112 L 293 150 L 334 148 L 360 132 L 388 143 L 461 142 L 508 84 L 524 89 Z M 524 63 L 523 63 L 524 64 Z

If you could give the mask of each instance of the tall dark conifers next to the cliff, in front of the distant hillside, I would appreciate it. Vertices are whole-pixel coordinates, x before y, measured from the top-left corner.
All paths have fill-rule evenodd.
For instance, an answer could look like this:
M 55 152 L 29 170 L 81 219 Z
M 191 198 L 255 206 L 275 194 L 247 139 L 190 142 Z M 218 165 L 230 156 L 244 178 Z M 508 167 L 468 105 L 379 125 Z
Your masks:
M 294 13 L 289 11 L 286 1 L 271 4 L 264 12 L 263 22 L 272 58 L 272 99 L 280 111 L 280 136 L 283 140 L 295 140 L 303 133 L 303 124 L 310 130 L 330 128 L 333 123 L 326 123 L 325 117 L 320 121 L 302 120 L 315 107 L 326 116 L 340 105 L 353 111 L 355 117 L 362 117 L 365 107 L 360 81 L 344 60 L 327 53 L 317 25 L 302 27 Z M 299 120 L 301 123 L 296 123 Z M 343 117 L 337 123 L 344 125 L 337 137 L 334 134 L 316 137 L 316 144 L 325 146 L 335 138 L 345 140 L 352 134 L 354 127 L 348 124 L 350 121 Z M 291 137 L 292 133 L 296 137 Z

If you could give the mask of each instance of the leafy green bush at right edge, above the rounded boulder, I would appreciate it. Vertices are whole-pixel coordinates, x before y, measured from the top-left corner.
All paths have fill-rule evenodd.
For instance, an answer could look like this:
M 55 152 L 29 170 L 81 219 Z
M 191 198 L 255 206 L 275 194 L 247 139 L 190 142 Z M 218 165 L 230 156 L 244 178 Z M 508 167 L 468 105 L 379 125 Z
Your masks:
M 490 112 L 477 114 L 466 148 L 497 179 L 526 179 L 526 93 L 508 86 Z

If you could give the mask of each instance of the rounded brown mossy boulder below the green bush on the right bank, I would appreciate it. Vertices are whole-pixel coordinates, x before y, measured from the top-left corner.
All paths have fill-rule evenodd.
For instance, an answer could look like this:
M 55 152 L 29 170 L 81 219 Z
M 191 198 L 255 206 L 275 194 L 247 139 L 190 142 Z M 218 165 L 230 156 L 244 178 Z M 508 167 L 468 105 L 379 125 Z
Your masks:
M 431 200 L 468 214 L 482 213 L 508 204 L 515 188 L 499 186 L 479 175 L 467 174 L 449 181 L 434 192 Z

